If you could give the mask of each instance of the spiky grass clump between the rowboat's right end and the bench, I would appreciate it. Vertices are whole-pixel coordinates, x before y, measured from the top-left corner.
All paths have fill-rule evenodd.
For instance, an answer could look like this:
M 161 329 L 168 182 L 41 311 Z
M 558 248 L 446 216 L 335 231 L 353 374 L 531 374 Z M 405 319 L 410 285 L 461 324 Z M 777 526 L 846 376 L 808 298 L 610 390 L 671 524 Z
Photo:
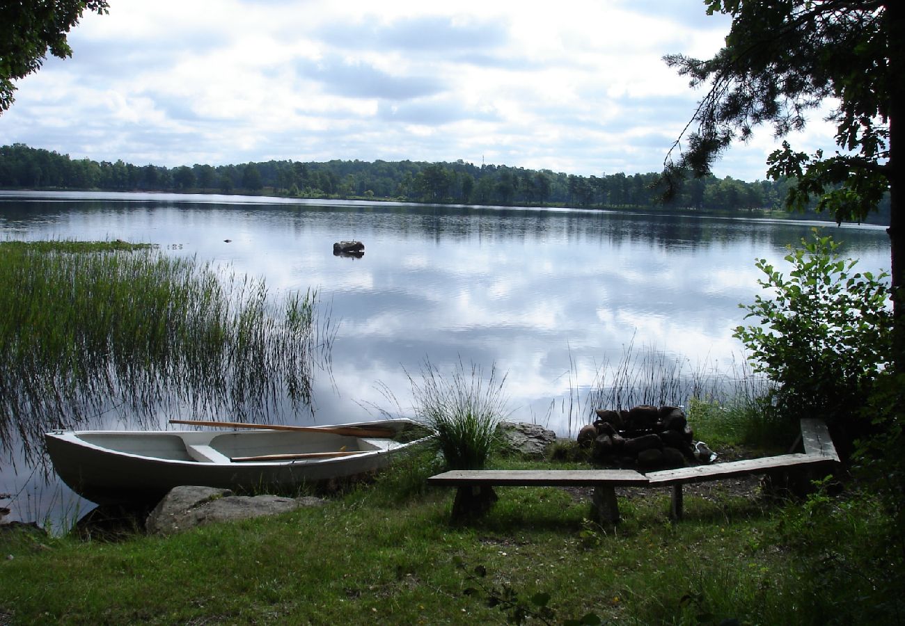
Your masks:
M 452 375 L 443 376 L 429 361 L 421 380 L 409 375 L 418 419 L 437 433 L 432 440 L 451 470 L 480 470 L 497 441 L 497 424 L 505 414 L 506 396 L 496 365 L 485 381 L 483 370 L 462 361 Z

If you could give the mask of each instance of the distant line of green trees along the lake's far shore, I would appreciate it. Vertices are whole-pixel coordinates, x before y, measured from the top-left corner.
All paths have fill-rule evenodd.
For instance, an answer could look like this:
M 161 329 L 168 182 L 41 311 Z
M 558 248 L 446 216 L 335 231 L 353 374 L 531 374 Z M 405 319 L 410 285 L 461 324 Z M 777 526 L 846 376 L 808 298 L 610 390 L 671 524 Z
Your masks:
M 417 161 L 267 161 L 230 166 L 135 166 L 92 161 L 24 144 L 0 147 L 0 187 L 181 193 L 251 193 L 303 198 L 365 198 L 452 204 L 643 209 L 657 206 L 659 175 L 581 176 L 509 166 Z M 789 183 L 729 176 L 689 178 L 672 208 L 772 212 Z M 812 207 L 813 210 L 813 207 Z M 889 200 L 876 216 L 888 223 Z

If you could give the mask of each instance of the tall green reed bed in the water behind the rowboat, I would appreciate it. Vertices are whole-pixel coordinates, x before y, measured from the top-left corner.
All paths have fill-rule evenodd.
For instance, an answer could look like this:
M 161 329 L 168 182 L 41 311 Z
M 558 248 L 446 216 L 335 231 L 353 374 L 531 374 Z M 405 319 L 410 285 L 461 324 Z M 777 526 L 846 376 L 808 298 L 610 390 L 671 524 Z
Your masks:
M 335 334 L 315 291 L 125 242 L 0 243 L 0 444 L 26 460 L 47 430 L 115 411 L 268 419 L 310 410 Z

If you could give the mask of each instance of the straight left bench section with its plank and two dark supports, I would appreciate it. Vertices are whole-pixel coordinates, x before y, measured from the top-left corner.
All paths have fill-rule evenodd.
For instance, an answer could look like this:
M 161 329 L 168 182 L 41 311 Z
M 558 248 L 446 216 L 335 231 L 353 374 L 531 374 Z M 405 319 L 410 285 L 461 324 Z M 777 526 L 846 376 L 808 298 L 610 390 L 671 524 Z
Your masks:
M 496 501 L 493 487 L 593 487 L 593 515 L 601 522 L 619 521 L 614 487 L 647 485 L 635 470 L 451 470 L 427 479 L 432 485 L 458 487 L 452 517 L 484 512 Z

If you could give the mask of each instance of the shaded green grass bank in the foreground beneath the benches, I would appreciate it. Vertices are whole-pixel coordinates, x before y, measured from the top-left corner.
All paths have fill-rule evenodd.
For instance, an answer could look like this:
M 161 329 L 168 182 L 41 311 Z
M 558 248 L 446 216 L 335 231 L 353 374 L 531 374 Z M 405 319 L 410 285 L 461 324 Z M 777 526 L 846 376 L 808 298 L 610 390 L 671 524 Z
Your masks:
M 424 486 L 433 463 L 425 451 L 326 507 L 169 538 L 106 544 L 0 535 L 0 617 L 503 623 L 505 607 L 491 608 L 486 595 L 510 589 L 529 607 L 532 596 L 549 593 L 551 623 L 587 612 L 629 624 L 894 619 L 891 590 L 901 570 L 868 568 L 884 519 L 870 499 L 811 506 L 688 496 L 685 519 L 673 525 L 666 490 L 650 490 L 620 498 L 624 522 L 610 528 L 588 522 L 589 503 L 564 490 L 500 488 L 486 517 L 452 524 L 452 489 Z M 478 566 L 486 576 L 475 576 Z M 862 606 L 878 598 L 887 604 Z

